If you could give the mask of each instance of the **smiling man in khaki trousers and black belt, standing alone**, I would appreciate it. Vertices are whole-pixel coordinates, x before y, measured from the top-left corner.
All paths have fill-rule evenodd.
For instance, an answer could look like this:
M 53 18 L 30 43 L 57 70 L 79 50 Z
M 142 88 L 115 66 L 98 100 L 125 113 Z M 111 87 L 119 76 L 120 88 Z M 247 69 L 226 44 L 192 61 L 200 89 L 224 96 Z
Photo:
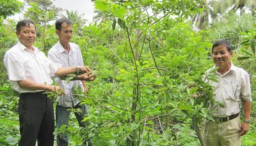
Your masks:
M 227 40 L 216 41 L 212 45 L 214 67 L 219 67 L 216 71 L 219 82 L 210 80 L 209 84 L 214 87 L 216 101 L 223 106 L 209 106 L 209 113 L 215 121 L 205 120 L 204 140 L 207 146 L 241 145 L 241 136 L 249 130 L 252 104 L 250 76 L 230 62 L 232 55 L 232 45 Z M 239 116 L 241 104 L 244 114 L 242 123 Z

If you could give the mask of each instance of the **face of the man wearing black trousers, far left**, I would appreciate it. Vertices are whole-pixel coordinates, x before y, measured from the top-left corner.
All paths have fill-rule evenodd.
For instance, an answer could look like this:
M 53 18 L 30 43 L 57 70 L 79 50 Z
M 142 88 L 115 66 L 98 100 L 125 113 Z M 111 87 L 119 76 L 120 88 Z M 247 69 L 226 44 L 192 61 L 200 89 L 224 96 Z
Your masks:
M 20 43 L 27 48 L 31 48 L 36 41 L 36 29 L 33 24 L 20 27 L 20 32 L 16 31 Z

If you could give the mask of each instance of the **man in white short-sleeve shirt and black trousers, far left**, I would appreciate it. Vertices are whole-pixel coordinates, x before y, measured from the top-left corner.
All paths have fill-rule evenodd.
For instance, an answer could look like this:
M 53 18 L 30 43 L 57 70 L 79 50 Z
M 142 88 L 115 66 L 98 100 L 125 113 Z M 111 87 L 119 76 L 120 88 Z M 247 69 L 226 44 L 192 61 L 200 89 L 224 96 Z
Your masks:
M 60 86 L 51 85 L 51 76 L 67 76 L 77 70 L 87 72 L 77 80 L 93 80 L 87 67 L 58 68 L 33 44 L 36 40 L 36 26 L 31 20 L 21 20 L 16 26 L 19 42 L 4 55 L 8 77 L 13 89 L 20 93 L 19 121 L 20 146 L 53 145 L 54 112 L 52 100 L 45 91 L 64 94 Z

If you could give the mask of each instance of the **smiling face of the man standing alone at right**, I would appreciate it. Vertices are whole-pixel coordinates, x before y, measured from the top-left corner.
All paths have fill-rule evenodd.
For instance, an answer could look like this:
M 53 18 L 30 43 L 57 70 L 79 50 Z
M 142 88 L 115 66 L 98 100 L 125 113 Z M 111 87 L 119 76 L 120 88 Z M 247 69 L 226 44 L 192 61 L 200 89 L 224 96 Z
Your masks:
M 228 67 L 230 65 L 230 59 L 233 55 L 233 51 L 228 52 L 225 45 L 220 45 L 213 48 L 212 59 L 218 67 Z

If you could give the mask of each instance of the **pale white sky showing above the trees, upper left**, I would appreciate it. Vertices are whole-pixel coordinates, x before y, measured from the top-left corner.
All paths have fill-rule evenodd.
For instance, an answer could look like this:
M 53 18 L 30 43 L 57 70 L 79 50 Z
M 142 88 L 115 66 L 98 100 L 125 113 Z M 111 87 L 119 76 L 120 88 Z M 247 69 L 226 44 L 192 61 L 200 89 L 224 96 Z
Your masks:
M 21 2 L 24 2 L 24 0 L 19 0 Z M 83 18 L 86 18 L 88 20 L 88 23 L 92 22 L 92 18 L 95 15 L 93 13 L 94 11 L 94 6 L 91 0 L 52 0 L 52 3 L 58 7 L 58 8 L 63 8 L 67 9 L 68 11 L 76 11 L 79 13 L 79 15 L 83 15 Z M 62 12 L 63 14 L 65 14 L 65 11 Z M 19 20 L 20 16 L 22 16 L 22 14 L 17 14 L 14 15 L 10 18 L 14 19 L 14 20 Z

